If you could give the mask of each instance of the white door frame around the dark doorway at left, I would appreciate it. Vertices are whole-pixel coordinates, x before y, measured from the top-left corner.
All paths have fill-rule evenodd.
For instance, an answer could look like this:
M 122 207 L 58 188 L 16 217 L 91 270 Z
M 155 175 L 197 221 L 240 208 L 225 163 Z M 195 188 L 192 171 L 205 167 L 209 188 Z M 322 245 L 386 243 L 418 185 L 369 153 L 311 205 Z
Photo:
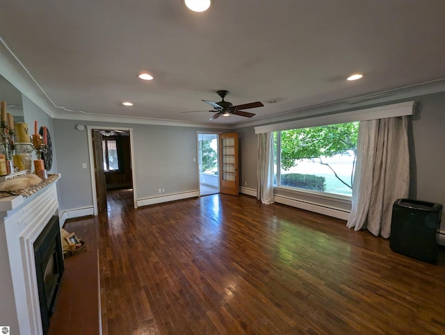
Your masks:
M 92 131 L 95 130 L 121 130 L 128 131 L 130 134 L 130 162 L 131 162 L 131 182 L 133 183 L 133 206 L 135 209 L 138 208 L 138 203 L 136 202 L 136 167 L 134 164 L 134 149 L 133 149 L 133 128 L 126 128 L 122 126 L 87 126 L 88 133 L 88 154 L 90 156 L 90 177 L 91 177 L 91 188 L 92 188 L 92 204 L 94 209 L 94 215 L 97 216 L 97 194 L 96 194 L 96 176 L 95 176 L 95 158 L 94 150 L 92 148 Z

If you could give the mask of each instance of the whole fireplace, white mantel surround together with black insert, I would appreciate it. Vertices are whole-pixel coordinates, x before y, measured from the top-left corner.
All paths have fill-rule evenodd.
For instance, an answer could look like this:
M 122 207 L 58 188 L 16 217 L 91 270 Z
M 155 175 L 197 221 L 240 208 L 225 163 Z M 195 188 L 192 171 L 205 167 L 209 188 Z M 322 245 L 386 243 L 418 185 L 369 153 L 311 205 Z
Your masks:
M 54 180 L 33 195 L 0 199 L 0 325 L 9 326 L 10 334 L 44 334 L 42 315 L 51 314 L 58 289 L 53 283 L 60 281 L 63 272 L 63 259 L 58 257 L 63 254 L 54 253 L 60 243 L 57 217 Z M 46 245 L 51 252 L 36 255 L 38 245 Z M 37 263 L 36 257 L 40 257 Z

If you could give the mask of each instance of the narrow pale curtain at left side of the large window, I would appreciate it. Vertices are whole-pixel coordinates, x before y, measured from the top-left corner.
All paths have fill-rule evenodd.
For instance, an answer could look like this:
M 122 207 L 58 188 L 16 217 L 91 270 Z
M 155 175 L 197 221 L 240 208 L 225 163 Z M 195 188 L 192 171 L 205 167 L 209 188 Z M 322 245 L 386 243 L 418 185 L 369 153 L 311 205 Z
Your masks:
M 273 133 L 258 135 L 257 199 L 273 204 Z

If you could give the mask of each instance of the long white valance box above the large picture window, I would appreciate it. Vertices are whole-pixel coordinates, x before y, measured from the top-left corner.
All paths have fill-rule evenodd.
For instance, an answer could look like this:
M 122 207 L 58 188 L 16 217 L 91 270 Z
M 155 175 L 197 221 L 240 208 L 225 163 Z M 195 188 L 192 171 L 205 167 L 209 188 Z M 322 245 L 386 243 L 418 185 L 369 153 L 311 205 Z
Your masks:
M 307 128 L 309 126 L 326 126 L 327 124 L 339 124 L 354 121 L 368 121 L 385 119 L 387 117 L 398 117 L 403 115 L 414 115 L 415 101 L 401 102 L 387 106 L 360 109 L 333 115 L 318 117 L 305 117 L 300 120 L 267 124 L 265 126 L 254 127 L 255 133 L 270 133 L 272 131 L 282 131 L 289 129 Z

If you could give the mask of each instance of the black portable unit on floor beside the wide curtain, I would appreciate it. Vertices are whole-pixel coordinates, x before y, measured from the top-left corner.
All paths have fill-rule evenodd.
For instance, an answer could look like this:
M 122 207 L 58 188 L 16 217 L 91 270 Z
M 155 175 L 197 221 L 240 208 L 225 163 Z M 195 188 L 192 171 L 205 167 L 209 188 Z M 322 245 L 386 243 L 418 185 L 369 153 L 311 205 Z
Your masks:
M 392 206 L 389 247 L 429 263 L 437 261 L 442 204 L 397 199 Z

